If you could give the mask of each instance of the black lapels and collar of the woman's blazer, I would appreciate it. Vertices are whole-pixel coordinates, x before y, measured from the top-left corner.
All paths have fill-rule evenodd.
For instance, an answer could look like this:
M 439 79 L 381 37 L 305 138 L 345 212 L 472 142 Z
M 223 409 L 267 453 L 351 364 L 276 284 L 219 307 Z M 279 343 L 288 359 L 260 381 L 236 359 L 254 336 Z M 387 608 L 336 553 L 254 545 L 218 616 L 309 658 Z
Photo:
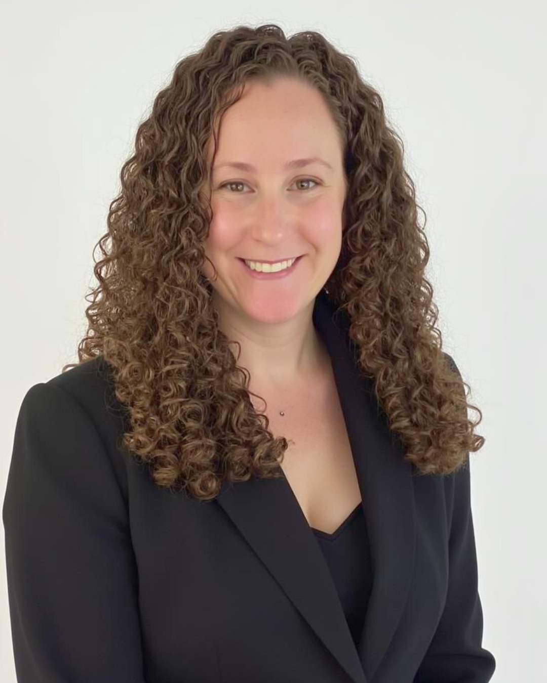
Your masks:
M 369 535 L 373 586 L 358 648 L 321 548 L 282 469 L 280 479 L 222 482 L 215 499 L 355 683 L 368 683 L 401 619 L 414 563 L 412 466 L 358 369 L 349 317 L 321 291 L 313 320 L 332 358 Z

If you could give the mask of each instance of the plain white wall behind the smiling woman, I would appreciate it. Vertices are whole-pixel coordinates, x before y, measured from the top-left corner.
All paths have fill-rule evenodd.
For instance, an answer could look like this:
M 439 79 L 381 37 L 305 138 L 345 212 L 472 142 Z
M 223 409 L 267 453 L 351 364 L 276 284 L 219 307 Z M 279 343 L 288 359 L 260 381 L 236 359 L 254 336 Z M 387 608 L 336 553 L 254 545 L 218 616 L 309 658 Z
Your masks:
M 405 143 L 427 213 L 443 348 L 483 410 L 477 431 L 486 443 L 471 455 L 483 645 L 496 657 L 496 683 L 539 681 L 547 636 L 543 3 L 192 5 L 2 6 L 0 484 L 27 389 L 76 360 L 92 248 L 139 120 L 176 62 L 238 23 L 321 31 L 358 59 Z M 3 554 L 0 586 L 8 683 L 16 678 Z

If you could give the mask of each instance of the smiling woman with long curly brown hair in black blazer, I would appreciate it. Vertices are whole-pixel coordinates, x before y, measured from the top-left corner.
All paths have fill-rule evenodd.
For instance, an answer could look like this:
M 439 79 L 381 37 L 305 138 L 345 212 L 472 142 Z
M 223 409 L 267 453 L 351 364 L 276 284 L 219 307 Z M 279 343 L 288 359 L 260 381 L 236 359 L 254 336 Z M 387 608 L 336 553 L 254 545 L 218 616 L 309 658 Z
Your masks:
M 490 680 L 481 411 L 417 208 L 381 98 L 319 33 L 241 26 L 176 66 L 79 363 L 18 416 L 20 682 Z

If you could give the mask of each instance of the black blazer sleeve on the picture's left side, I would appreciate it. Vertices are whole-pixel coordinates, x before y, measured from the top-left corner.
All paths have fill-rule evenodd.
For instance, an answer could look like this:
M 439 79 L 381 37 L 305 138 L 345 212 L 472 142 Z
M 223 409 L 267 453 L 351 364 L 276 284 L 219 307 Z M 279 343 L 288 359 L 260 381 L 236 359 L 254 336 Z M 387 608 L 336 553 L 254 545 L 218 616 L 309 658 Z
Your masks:
M 142 683 L 126 504 L 94 424 L 57 385 L 31 387 L 2 508 L 18 683 Z

